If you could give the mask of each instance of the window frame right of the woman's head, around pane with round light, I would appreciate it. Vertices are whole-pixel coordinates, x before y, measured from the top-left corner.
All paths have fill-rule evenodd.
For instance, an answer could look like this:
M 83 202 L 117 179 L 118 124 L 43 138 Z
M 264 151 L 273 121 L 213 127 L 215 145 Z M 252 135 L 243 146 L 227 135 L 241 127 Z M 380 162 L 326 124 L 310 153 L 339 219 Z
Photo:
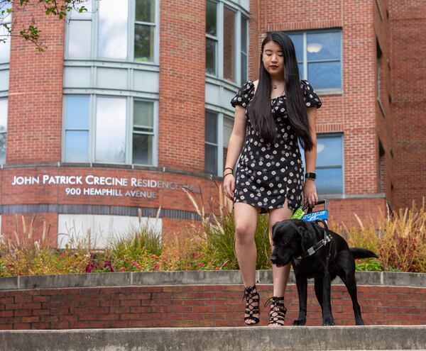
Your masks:
M 324 29 L 315 29 L 315 30 L 292 30 L 288 31 L 286 30 L 284 32 L 287 35 L 297 35 L 302 34 L 303 35 L 303 59 L 302 59 L 302 72 L 300 72 L 300 79 L 307 79 L 310 78 L 307 77 L 307 65 L 308 63 L 315 63 L 315 62 L 340 62 L 340 88 L 325 88 L 325 89 L 319 89 L 315 87 L 315 91 L 321 94 L 342 94 L 343 91 L 343 36 L 342 36 L 342 28 L 324 28 Z M 339 60 L 336 59 L 329 59 L 329 60 L 310 60 L 307 61 L 307 35 L 308 34 L 322 34 L 322 33 L 340 33 L 340 58 Z M 300 62 L 297 61 L 297 64 Z

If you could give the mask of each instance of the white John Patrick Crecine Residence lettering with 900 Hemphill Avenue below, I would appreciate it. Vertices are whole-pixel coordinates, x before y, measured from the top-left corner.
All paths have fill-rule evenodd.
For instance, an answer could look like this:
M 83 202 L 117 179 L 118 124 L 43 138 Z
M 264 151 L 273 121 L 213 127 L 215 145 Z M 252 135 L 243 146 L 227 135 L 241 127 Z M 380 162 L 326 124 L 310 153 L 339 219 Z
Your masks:
M 70 196 L 119 196 L 156 199 L 158 189 L 195 189 L 189 184 L 165 182 L 157 179 L 136 177 L 99 177 L 93 174 L 14 176 L 12 186 L 66 185 L 65 194 Z

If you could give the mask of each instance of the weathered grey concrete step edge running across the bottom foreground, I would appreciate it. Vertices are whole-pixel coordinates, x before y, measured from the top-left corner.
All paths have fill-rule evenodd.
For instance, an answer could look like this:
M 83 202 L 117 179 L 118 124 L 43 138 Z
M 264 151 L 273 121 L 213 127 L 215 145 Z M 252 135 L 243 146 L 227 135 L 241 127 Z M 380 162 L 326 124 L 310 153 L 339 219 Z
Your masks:
M 426 325 L 1 330 L 7 351 L 426 350 Z

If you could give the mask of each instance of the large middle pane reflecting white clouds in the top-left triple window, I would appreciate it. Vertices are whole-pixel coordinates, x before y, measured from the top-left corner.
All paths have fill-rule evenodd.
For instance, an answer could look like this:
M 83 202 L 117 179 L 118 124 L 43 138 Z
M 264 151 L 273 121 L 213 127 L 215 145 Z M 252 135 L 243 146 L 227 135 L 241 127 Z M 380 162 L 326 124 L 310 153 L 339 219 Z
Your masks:
M 114 59 L 127 57 L 128 0 L 99 1 L 98 56 Z

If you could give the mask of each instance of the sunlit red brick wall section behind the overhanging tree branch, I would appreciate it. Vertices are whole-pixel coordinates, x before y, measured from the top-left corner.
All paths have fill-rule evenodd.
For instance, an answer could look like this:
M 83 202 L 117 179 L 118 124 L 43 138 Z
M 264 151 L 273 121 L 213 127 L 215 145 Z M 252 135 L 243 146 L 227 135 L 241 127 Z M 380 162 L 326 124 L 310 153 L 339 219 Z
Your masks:
M 14 16 L 16 30 L 37 18 L 45 52 L 18 36 L 11 38 L 6 162 L 60 161 L 62 67 L 65 21 L 46 16 L 43 6 L 27 6 Z

